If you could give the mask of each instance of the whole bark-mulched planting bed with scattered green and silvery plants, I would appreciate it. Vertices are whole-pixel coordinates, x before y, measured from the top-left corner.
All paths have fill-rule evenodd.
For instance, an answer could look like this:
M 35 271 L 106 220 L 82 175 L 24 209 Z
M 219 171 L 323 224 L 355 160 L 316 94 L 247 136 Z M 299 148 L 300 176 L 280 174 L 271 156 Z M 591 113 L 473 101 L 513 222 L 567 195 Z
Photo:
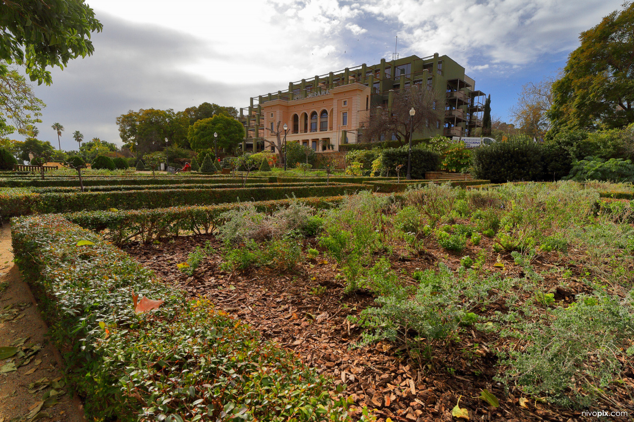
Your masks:
M 625 189 L 427 184 L 330 207 L 242 204 L 207 234 L 124 249 L 345 383 L 378 420 L 455 420 L 460 400 L 472 420 L 609 408 L 625 421 L 633 214 L 601 198 Z

